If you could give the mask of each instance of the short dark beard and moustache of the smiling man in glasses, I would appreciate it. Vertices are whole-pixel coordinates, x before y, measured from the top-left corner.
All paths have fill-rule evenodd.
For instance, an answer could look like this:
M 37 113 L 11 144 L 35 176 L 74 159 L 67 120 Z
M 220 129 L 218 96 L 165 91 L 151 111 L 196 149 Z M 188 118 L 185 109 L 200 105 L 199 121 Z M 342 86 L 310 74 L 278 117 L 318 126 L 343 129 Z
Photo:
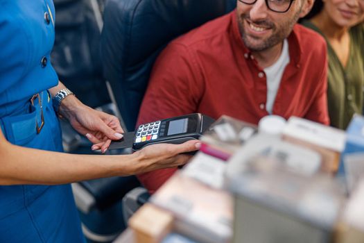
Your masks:
M 268 21 L 268 20 L 262 20 L 257 22 L 252 22 L 252 20 L 249 17 L 249 13 L 246 13 L 245 15 L 241 15 L 239 17 L 239 29 L 241 31 L 241 38 L 243 39 L 243 42 L 245 44 L 245 47 L 250 49 L 250 51 L 264 51 L 266 49 L 270 49 L 271 47 L 274 47 L 275 45 L 283 42 L 286 37 L 291 33 L 293 26 L 297 22 L 298 18 L 300 17 L 300 11 L 297 11 L 297 13 L 293 16 L 293 18 L 289 21 L 284 22 L 281 26 L 275 25 L 274 23 Z M 251 39 L 254 37 L 249 36 L 244 31 L 244 22 L 245 19 L 248 19 L 248 21 L 252 24 L 256 24 L 257 26 L 263 26 L 266 28 L 270 28 L 272 30 L 272 35 L 270 35 L 267 39 L 261 40 L 259 44 L 255 44 L 254 42 L 251 42 Z M 257 38 L 259 40 L 259 38 Z

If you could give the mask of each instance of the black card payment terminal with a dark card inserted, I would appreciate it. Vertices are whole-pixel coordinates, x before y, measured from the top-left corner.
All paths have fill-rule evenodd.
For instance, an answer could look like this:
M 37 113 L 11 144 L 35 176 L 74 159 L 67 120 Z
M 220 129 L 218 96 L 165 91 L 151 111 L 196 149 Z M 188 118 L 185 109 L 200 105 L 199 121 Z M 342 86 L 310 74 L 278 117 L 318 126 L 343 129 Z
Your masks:
M 132 147 L 132 150 L 137 151 L 151 144 L 182 144 L 188 140 L 198 139 L 213 122 L 214 119 L 207 115 L 193 113 L 141 124 L 137 131 L 124 133 L 121 140 L 113 141 L 109 149 Z

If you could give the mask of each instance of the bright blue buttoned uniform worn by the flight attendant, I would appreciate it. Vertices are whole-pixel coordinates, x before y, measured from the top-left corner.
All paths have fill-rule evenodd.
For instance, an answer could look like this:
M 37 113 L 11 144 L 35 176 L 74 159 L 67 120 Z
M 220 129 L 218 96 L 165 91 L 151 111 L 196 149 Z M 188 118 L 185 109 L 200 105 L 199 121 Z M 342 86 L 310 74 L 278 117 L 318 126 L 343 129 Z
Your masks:
M 46 91 L 58 84 L 53 42 L 51 0 L 0 0 L 0 125 L 12 144 L 62 151 Z M 0 242 L 84 242 L 70 185 L 0 186 Z

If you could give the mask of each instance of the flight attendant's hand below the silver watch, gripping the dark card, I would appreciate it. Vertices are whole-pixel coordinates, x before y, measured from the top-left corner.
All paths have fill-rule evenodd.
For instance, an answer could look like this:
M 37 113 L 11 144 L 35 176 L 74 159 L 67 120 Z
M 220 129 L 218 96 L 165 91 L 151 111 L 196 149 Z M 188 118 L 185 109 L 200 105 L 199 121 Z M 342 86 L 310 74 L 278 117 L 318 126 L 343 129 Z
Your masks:
M 92 150 L 101 149 L 105 153 L 112 140 L 123 137 L 117 117 L 89 108 L 74 96 L 62 101 L 60 114 L 69 119 L 78 133 L 85 135 L 94 144 Z

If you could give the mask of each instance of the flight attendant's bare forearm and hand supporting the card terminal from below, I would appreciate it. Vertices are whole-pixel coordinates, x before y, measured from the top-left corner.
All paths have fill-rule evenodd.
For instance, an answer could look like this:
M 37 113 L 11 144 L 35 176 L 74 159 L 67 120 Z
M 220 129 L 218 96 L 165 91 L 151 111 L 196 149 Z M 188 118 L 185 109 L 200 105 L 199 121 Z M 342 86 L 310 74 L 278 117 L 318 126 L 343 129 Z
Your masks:
M 198 140 L 155 144 L 123 156 L 73 155 L 10 144 L 0 131 L 0 185 L 73 183 L 109 176 L 128 176 L 182 165 L 198 149 Z

